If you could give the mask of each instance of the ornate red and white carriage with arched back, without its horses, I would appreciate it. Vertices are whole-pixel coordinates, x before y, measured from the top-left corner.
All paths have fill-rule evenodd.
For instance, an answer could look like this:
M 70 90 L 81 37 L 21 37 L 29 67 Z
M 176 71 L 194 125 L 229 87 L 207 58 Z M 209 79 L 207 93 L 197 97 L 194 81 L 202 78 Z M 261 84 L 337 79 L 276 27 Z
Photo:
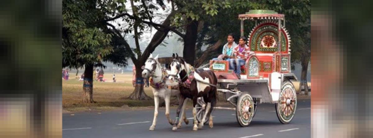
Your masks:
M 297 77 L 290 68 L 291 41 L 285 29 L 285 15 L 273 10 L 250 10 L 238 18 L 241 36 L 244 35 L 244 21 L 255 22 L 247 41 L 255 54 L 250 55 L 241 67 L 241 79 L 229 70 L 228 61 L 210 60 L 210 69 L 218 78 L 218 92 L 236 107 L 236 118 L 241 126 L 250 124 L 260 103 L 275 104 L 279 121 L 289 123 L 297 107 L 297 95 L 291 81 Z M 197 119 L 201 121 L 205 106 L 202 98 L 198 99 L 197 106 Z

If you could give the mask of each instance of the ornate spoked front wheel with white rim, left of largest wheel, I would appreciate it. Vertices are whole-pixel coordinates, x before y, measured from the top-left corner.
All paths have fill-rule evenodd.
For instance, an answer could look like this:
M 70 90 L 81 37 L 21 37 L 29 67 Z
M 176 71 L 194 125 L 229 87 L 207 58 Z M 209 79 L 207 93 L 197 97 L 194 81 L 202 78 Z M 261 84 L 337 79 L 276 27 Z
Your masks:
M 243 125 L 248 125 L 254 115 L 254 103 L 250 96 L 244 96 L 240 104 L 240 120 Z

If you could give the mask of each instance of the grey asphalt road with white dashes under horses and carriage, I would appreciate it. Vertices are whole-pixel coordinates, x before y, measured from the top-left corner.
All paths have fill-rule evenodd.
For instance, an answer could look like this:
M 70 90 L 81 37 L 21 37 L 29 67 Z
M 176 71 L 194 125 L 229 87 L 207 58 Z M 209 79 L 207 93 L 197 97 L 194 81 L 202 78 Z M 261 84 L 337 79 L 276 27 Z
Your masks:
M 278 121 L 275 105 L 260 104 L 248 127 L 241 127 L 236 121 L 235 111 L 216 109 L 213 112 L 214 128 L 204 125 L 203 129 L 192 131 L 189 125 L 173 132 L 166 121 L 164 110 L 160 110 L 156 129 L 149 131 L 153 121 L 153 110 L 112 111 L 98 113 L 63 114 L 64 138 L 310 138 L 311 102 L 298 100 L 297 111 L 292 122 L 286 125 Z M 191 118 L 191 109 L 187 117 Z M 174 118 L 175 110 L 171 110 Z

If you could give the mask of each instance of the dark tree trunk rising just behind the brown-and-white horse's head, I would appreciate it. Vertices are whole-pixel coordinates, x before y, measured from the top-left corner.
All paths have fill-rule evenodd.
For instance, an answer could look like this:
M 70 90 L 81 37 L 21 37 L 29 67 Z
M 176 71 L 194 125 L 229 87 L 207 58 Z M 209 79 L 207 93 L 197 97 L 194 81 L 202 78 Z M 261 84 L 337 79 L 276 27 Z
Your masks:
M 198 21 L 192 21 L 186 26 L 184 39 L 183 58 L 191 65 L 194 65 L 195 43 L 197 42 Z

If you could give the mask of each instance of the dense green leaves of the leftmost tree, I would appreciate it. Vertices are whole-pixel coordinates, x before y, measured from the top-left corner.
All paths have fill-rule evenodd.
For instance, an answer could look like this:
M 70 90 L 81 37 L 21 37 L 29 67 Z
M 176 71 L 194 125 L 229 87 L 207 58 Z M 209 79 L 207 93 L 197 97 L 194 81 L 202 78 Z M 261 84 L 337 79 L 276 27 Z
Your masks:
M 125 12 L 125 0 L 63 0 L 62 55 L 63 67 L 80 68 L 84 64 L 102 65 L 102 61 L 114 61 L 126 65 L 126 57 L 121 61 L 110 59 L 113 51 L 122 51 L 112 42 L 112 33 L 100 23 L 108 15 Z M 114 12 L 115 11 L 115 12 Z

